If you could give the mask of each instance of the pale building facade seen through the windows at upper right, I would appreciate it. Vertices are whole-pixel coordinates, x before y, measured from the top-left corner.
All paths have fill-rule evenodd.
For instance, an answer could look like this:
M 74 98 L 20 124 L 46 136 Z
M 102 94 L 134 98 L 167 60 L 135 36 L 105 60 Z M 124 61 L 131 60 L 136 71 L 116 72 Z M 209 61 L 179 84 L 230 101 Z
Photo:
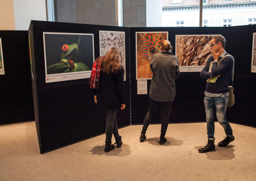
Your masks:
M 162 26 L 176 27 L 176 20 L 186 20 L 184 27 L 199 26 L 199 0 L 183 0 L 181 4 L 173 4 L 171 0 L 163 0 Z M 203 0 L 202 17 L 207 20 L 208 27 L 236 26 L 253 24 L 249 18 L 255 18 L 256 0 Z M 223 17 L 227 22 L 223 21 Z M 232 19 L 232 22 L 228 22 Z

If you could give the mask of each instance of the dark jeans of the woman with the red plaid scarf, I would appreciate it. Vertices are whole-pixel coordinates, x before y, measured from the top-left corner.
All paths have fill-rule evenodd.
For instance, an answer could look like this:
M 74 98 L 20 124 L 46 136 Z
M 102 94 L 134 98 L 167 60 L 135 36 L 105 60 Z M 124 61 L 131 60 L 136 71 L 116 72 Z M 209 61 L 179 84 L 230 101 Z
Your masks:
M 112 134 L 115 136 L 115 140 L 118 140 L 119 133 L 116 124 L 116 112 L 117 110 L 111 108 L 103 108 L 106 113 L 106 145 L 111 144 Z

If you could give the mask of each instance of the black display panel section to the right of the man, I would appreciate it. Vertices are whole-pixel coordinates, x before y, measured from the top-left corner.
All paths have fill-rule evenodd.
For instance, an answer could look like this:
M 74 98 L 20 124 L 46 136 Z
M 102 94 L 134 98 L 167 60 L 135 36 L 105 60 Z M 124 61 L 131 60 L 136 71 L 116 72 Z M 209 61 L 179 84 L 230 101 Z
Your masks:
M 227 108 L 228 120 L 256 126 L 256 73 L 251 72 L 252 41 L 256 25 L 228 27 L 228 51 L 234 56 L 234 94 L 236 104 Z

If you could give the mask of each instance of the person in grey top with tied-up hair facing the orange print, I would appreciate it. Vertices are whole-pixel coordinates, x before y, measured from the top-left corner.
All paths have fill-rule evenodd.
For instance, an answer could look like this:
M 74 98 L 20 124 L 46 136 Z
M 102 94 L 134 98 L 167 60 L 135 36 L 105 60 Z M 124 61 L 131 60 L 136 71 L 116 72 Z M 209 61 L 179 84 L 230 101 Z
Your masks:
M 146 140 L 146 131 L 157 108 L 161 109 L 161 135 L 159 144 L 163 145 L 167 139 L 164 138 L 169 123 L 169 112 L 172 107 L 172 101 L 175 98 L 176 87 L 175 79 L 180 75 L 179 61 L 172 51 L 170 41 L 164 40 L 160 45 L 161 52 L 154 54 L 150 63 L 153 72 L 150 84 L 150 103 L 147 115 L 145 116 L 143 128 L 141 130 L 140 141 Z

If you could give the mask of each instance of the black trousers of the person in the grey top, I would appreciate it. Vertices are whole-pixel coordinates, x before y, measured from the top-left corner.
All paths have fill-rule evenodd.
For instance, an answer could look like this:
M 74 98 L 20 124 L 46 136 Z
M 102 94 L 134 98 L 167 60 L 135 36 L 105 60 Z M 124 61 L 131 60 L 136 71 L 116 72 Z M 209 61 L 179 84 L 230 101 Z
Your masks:
M 154 101 L 154 100 L 150 99 L 148 112 L 145 116 L 141 133 L 144 133 L 144 134 L 146 133 L 146 131 L 148 129 L 148 125 L 150 124 L 154 114 L 156 114 L 157 108 L 159 106 L 162 106 L 162 108 L 161 108 L 161 137 L 165 136 L 166 130 L 167 130 L 167 127 L 169 124 L 169 113 L 170 113 L 170 108 L 172 107 L 172 101 L 159 102 L 159 101 Z

